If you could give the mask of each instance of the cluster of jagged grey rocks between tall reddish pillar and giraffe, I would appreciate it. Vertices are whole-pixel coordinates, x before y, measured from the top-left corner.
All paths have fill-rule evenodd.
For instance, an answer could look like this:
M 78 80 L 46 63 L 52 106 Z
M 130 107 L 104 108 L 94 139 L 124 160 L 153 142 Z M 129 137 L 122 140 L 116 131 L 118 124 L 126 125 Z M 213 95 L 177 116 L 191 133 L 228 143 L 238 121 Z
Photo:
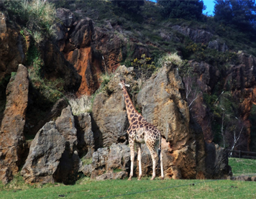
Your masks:
M 82 114 L 75 119 L 68 106 L 56 121 L 37 132 L 21 174 L 25 182 L 73 184 L 81 167 L 79 154 L 82 157 L 89 153 L 89 158 L 92 150 L 90 116 Z

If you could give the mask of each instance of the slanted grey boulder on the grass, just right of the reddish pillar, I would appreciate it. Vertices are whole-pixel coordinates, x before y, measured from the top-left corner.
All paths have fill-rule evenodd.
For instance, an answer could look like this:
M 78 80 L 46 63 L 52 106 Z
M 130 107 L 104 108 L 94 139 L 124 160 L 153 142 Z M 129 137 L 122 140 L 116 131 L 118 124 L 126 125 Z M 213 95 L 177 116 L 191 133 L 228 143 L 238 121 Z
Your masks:
M 55 172 L 65 150 L 65 138 L 50 121 L 38 131 L 29 149 L 29 156 L 22 167 L 25 182 L 56 182 Z

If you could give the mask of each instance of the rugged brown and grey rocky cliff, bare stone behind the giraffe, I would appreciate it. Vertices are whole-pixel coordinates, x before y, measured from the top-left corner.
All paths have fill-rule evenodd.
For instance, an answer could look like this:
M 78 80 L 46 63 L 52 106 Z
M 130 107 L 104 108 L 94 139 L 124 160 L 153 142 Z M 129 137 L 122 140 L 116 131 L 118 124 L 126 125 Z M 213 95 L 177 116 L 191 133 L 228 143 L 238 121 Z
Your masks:
M 186 67 L 200 91 L 192 108 L 186 98 L 186 81 L 177 65 L 165 62 L 141 85 L 136 70 L 121 64 L 127 60 L 131 63 L 142 54 L 150 57 L 160 50 L 168 52 L 166 42 L 177 45 L 185 40 L 200 42 L 207 49 L 222 53 L 218 54 L 221 57 L 229 52 L 229 47 L 215 40 L 214 33 L 171 24 L 167 27 L 173 31 L 170 35 L 166 33 L 168 29 L 157 32 L 163 45 L 148 38 L 142 43 L 142 34 L 138 30 L 133 34 L 122 22 L 106 20 L 98 25 L 88 17 L 76 20 L 68 9 L 57 9 L 61 23 L 52 27 L 57 35 L 55 41 L 45 39 L 37 46 L 44 63 L 40 75 L 50 82 L 63 79 L 60 83 L 63 93 L 94 95 L 91 113 L 73 116 L 65 99 L 47 106 L 38 103 L 48 100 L 32 85 L 27 71 L 31 66 L 19 65 L 25 65 L 32 45 L 26 39 L 29 32 L 22 35 L 21 28 L 6 19 L 6 12 L 0 14 L 0 179 L 3 182 L 12 180 L 19 169 L 26 182 L 72 184 L 81 172 L 97 180 L 127 177 L 129 123 L 118 85 L 121 76 L 131 85 L 129 95 L 137 110 L 161 131 L 165 177 L 205 179 L 231 175 L 227 152 L 213 143 L 221 143 L 216 139 L 216 131 L 220 129 L 216 124 L 221 124 L 224 114 L 220 111 L 225 108 L 221 105 L 222 91 L 227 93 L 225 98 L 232 99 L 231 110 L 244 125 L 245 144 L 239 149 L 250 149 L 254 125 L 250 115 L 256 91 L 254 56 L 232 52 L 237 61 L 225 65 L 189 60 Z M 111 77 L 106 85 L 101 85 L 102 72 Z M 226 119 L 234 117 L 230 112 L 225 114 Z M 142 172 L 143 175 L 152 172 L 145 145 Z

